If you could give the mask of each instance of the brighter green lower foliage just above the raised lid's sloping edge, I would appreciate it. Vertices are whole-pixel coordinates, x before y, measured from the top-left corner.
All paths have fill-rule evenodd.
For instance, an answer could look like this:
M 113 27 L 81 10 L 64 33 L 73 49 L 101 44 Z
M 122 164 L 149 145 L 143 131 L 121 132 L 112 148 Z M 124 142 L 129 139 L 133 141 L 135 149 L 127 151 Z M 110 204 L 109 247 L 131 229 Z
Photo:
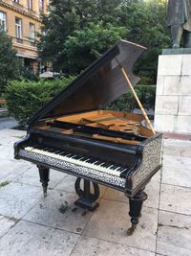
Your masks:
M 64 43 L 64 69 L 68 69 L 68 73 L 79 73 L 126 34 L 124 27 L 114 27 L 110 23 L 106 26 L 90 23 L 84 30 L 74 31 Z

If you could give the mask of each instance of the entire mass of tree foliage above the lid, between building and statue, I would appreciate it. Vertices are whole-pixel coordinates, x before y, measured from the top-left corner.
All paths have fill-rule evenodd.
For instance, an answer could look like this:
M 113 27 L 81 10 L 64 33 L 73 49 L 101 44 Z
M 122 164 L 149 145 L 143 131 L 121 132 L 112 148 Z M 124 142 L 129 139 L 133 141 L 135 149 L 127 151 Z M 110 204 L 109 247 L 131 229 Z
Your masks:
M 49 11 L 43 15 L 46 35 L 39 48 L 54 70 L 80 72 L 123 36 L 148 48 L 134 70 L 144 82 L 156 82 L 160 49 L 170 46 L 167 0 L 52 0 Z M 117 28 L 123 30 L 120 36 L 114 35 Z

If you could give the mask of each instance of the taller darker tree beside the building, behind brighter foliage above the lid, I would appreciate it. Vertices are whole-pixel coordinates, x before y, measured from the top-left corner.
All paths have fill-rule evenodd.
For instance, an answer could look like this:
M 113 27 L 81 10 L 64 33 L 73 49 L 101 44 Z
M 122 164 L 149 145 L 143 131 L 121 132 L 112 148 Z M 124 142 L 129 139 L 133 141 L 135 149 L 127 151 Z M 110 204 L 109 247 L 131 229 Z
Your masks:
M 68 35 L 74 31 L 83 30 L 90 22 L 117 20 L 117 12 L 121 0 L 52 0 L 49 15 L 42 16 L 43 30 L 46 34 L 40 36 L 39 56 L 42 61 L 52 61 L 53 69 L 60 71 L 63 46 Z

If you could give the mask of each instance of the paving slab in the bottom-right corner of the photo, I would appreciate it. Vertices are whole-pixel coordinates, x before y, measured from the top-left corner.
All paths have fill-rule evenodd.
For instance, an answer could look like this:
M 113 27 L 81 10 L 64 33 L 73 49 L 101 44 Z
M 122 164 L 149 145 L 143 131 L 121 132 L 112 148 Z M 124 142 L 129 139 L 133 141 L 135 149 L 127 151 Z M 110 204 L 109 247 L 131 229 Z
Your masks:
M 191 216 L 159 212 L 157 252 L 169 256 L 191 255 Z

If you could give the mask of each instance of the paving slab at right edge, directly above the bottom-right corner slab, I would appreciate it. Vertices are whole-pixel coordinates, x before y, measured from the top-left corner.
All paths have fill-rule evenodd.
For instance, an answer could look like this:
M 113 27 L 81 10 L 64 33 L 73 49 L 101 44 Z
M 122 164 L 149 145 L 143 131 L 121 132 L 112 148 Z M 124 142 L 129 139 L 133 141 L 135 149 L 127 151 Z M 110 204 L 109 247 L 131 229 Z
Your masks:
M 191 215 L 191 189 L 161 184 L 159 208 Z

